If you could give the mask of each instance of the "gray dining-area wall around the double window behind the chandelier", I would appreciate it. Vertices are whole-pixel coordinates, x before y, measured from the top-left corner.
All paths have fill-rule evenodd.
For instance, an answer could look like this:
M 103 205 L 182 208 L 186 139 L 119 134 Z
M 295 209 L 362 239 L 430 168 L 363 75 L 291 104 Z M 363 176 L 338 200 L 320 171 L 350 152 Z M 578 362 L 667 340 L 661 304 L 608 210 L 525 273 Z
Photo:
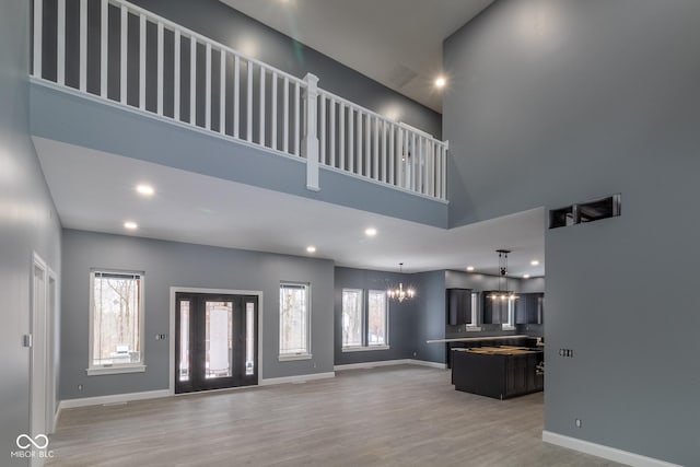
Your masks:
M 335 271 L 335 362 L 337 365 L 412 358 L 415 308 L 411 300 L 389 301 L 389 349 L 360 352 L 342 351 L 342 289 L 386 290 L 402 282 L 413 283 L 412 275 L 337 267 Z M 413 284 L 417 285 L 417 284 Z M 422 284 L 421 284 L 422 285 Z M 419 289 L 417 287 L 417 289 Z M 419 289 L 422 290 L 422 289 Z

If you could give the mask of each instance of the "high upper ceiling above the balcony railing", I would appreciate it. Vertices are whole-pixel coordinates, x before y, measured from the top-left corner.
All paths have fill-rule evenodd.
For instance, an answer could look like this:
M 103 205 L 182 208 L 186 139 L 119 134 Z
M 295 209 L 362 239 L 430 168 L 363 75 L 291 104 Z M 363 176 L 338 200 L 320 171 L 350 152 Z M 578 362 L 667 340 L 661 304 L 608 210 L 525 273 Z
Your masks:
M 221 0 L 442 113 L 442 43 L 493 0 Z M 401 83 L 412 73 L 416 77 Z M 323 84 L 322 84 L 323 85 Z

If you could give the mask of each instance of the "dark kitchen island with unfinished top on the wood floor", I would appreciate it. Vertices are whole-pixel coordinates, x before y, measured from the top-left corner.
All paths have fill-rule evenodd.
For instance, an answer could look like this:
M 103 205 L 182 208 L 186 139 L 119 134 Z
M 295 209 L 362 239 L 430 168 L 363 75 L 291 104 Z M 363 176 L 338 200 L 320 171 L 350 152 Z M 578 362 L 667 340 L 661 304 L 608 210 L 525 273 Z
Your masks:
M 541 349 L 498 346 L 452 351 L 452 384 L 457 390 L 506 399 L 544 389 Z

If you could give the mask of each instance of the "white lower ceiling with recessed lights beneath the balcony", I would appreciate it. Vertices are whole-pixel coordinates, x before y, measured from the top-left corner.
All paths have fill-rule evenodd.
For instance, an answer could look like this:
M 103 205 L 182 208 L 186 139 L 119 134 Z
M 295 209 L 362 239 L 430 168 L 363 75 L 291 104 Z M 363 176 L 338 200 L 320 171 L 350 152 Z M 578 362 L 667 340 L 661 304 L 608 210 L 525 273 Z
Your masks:
M 203 245 L 334 259 L 339 266 L 409 272 L 497 273 L 509 248 L 514 277 L 544 276 L 545 220 L 537 209 L 444 230 L 34 138 L 62 225 Z M 140 197 L 135 187 L 156 194 Z M 136 233 L 125 231 L 138 222 Z M 378 234 L 369 238 L 364 230 Z M 314 255 L 306 253 L 314 245 Z M 533 267 L 529 261 L 538 259 Z

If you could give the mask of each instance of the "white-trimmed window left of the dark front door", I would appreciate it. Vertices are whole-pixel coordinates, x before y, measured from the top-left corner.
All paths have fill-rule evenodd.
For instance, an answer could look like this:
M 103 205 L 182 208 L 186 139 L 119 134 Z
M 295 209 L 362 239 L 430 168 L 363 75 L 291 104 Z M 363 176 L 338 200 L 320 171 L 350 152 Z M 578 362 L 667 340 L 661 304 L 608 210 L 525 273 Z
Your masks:
M 89 375 L 143 372 L 143 273 L 90 275 Z

